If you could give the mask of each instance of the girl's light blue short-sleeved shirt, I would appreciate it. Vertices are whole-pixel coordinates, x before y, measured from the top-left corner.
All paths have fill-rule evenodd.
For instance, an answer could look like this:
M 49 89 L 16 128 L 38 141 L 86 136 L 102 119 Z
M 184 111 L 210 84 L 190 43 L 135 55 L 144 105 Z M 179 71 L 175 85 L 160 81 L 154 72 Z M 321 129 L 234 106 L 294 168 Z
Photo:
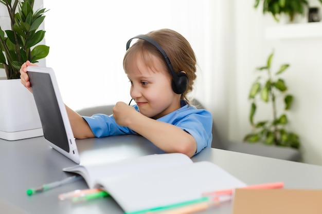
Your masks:
M 181 100 L 180 104 L 180 109 L 157 120 L 175 125 L 190 133 L 197 144 L 195 154 L 199 153 L 203 148 L 211 146 L 212 115 L 205 109 L 196 109 L 194 106 L 189 106 L 184 100 Z M 138 111 L 137 105 L 133 107 Z M 137 134 L 128 127 L 119 126 L 115 122 L 113 115 L 94 114 L 93 116 L 83 116 L 83 118 L 97 138 L 111 135 Z

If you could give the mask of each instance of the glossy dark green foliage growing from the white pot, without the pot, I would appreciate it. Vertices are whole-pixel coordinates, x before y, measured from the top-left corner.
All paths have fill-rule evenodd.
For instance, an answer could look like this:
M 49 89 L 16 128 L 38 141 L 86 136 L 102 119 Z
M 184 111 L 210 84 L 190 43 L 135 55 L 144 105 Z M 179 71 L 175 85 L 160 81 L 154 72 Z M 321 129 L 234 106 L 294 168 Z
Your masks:
M 38 28 L 46 11 L 44 8 L 34 12 L 34 0 L 0 0 L 0 3 L 8 10 L 11 26 L 10 30 L 0 26 L 0 68 L 5 69 L 8 80 L 19 79 L 24 62 L 37 63 L 49 53 L 48 46 L 35 46 L 45 36 L 45 31 Z

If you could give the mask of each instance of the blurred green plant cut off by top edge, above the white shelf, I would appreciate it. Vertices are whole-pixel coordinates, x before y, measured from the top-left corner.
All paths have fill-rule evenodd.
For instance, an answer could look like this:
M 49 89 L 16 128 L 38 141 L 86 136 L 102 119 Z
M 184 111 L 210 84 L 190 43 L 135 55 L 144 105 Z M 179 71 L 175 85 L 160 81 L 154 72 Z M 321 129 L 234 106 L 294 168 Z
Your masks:
M 322 4 L 322 0 L 318 0 Z M 255 0 L 257 8 L 261 0 Z M 287 14 L 292 22 L 295 14 L 304 15 L 309 8 L 307 0 L 263 0 L 263 14 L 271 13 L 276 22 L 279 22 L 281 14 Z

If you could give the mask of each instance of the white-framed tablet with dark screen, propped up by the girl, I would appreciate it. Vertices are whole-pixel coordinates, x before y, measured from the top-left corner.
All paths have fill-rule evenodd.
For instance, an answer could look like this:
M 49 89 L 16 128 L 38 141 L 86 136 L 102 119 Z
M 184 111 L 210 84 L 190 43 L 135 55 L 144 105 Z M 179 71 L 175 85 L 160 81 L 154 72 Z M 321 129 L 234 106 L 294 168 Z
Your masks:
M 52 68 L 28 66 L 27 74 L 42 124 L 44 138 L 53 148 L 75 163 L 80 162 L 55 72 Z

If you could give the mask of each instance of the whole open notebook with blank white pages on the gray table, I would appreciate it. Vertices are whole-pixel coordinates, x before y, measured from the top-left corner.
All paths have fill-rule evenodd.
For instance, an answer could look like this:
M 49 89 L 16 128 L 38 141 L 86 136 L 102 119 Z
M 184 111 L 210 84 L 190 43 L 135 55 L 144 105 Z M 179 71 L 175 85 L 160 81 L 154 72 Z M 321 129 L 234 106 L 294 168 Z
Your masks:
M 246 184 L 216 164 L 193 163 L 182 153 L 151 154 L 113 163 L 63 169 L 80 174 L 89 188 L 108 192 L 128 214 L 195 201 L 202 194 Z

